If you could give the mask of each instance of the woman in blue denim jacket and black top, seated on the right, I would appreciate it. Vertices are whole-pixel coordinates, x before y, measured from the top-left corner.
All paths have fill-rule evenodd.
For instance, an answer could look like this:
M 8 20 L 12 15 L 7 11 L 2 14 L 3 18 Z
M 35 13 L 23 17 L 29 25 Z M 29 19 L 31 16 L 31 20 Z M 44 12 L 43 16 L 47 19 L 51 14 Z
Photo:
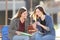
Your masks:
M 34 29 L 37 30 L 32 40 L 55 40 L 55 30 L 53 28 L 52 18 L 47 15 L 41 6 L 36 6 L 34 15 L 36 20 L 33 21 Z

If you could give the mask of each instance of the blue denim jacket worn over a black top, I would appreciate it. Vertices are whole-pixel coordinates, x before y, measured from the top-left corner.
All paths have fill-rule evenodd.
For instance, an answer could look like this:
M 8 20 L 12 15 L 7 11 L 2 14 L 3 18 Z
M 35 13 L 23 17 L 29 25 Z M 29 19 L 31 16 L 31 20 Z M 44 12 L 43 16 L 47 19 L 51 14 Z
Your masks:
M 38 20 L 40 22 L 40 20 Z M 54 24 L 53 24 L 53 20 L 51 18 L 51 16 L 46 15 L 45 16 L 45 22 L 46 22 L 46 27 L 49 27 L 50 31 L 46 31 L 45 35 L 53 35 L 55 36 L 55 30 L 54 30 Z M 39 31 L 41 31 L 41 27 L 39 25 L 37 25 L 37 28 Z

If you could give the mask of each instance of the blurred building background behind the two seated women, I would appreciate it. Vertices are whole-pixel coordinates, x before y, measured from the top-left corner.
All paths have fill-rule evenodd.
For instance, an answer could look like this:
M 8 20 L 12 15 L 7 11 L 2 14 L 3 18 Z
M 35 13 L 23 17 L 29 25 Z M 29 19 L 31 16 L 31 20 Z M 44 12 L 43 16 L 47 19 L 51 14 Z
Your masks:
M 52 16 L 56 40 L 60 40 L 60 0 L 0 0 L 0 27 L 9 25 L 10 18 L 16 14 L 19 8 L 24 6 L 28 12 L 32 12 L 37 5 L 41 5 L 46 14 Z

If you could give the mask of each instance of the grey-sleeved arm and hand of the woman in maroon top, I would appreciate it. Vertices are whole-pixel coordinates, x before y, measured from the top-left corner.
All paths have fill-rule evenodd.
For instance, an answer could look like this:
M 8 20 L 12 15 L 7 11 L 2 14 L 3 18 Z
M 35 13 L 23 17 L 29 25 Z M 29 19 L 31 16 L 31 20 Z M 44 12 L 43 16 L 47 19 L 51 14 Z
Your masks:
M 9 26 L 9 32 L 13 33 L 13 34 L 17 34 L 20 35 L 21 32 L 17 31 L 17 26 L 16 26 L 16 21 L 15 20 L 11 20 L 10 26 Z

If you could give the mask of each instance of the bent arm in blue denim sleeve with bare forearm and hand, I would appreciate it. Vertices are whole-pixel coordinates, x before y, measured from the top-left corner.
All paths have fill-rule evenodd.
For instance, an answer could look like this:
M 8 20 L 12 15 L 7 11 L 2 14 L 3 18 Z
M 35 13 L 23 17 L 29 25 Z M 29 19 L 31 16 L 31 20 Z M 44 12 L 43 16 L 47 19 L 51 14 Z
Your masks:
M 47 31 L 51 31 L 51 30 L 54 29 L 53 28 L 53 20 L 52 20 L 52 18 L 50 16 L 46 17 L 46 26 L 40 24 L 40 22 L 37 22 L 36 24 L 40 25 L 42 28 L 44 28 Z

